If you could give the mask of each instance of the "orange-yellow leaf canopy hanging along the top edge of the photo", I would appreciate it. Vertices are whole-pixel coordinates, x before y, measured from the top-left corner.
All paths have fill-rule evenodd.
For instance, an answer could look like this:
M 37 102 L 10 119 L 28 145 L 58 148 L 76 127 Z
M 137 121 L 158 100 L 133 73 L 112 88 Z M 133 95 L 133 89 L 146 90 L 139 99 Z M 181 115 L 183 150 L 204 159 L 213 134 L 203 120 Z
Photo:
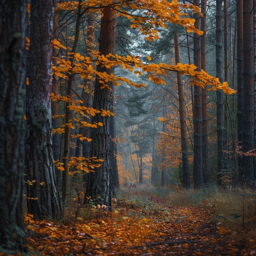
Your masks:
M 114 0 L 88 0 L 81 3 L 83 11 L 96 11 L 102 14 L 102 7 L 111 6 L 118 11 L 118 16 L 124 16 L 132 22 L 131 27 L 139 29 L 146 39 L 152 41 L 158 39 L 157 30 L 153 28 L 166 28 L 166 22 L 186 27 L 188 32 L 202 34 L 202 31 L 195 29 L 193 18 L 188 18 L 184 12 L 192 9 L 193 12 L 200 12 L 200 9 L 193 4 L 179 4 L 177 0 L 128 0 L 116 2 Z M 67 1 L 58 3 L 55 11 L 77 11 L 79 2 Z M 128 7 L 128 8 L 127 8 Z M 130 9 L 131 11 L 127 11 Z M 140 10 L 140 15 L 134 15 L 133 10 Z M 184 18 L 185 16 L 185 18 Z

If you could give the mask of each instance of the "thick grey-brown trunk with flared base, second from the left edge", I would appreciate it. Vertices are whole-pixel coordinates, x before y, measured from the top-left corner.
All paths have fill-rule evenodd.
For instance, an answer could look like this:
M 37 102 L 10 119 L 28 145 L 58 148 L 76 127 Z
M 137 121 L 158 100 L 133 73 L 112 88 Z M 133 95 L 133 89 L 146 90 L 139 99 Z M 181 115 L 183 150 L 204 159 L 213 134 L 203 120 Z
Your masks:
M 26 178 L 29 180 L 27 197 L 30 198 L 27 208 L 37 218 L 58 219 L 61 201 L 54 171 L 49 97 L 52 85 L 52 25 L 53 2 L 31 0 L 26 101 Z

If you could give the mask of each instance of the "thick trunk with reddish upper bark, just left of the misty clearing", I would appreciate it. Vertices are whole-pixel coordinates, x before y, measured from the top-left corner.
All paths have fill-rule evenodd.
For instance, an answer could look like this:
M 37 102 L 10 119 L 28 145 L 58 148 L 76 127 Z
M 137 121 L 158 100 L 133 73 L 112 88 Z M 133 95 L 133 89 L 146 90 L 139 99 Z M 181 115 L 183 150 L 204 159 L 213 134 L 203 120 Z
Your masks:
M 103 17 L 101 18 L 101 32 L 99 38 L 99 52 L 107 55 L 115 52 L 116 38 L 116 11 L 110 7 L 104 7 Z M 107 69 L 103 65 L 97 66 L 98 72 L 113 73 L 112 69 Z M 101 89 L 101 83 L 96 79 L 95 92 L 93 99 L 93 108 L 97 110 L 111 110 L 112 91 L 108 88 Z M 112 88 L 112 82 L 108 83 Z M 103 127 L 92 129 L 92 142 L 90 156 L 103 159 L 101 166 L 95 172 L 90 172 L 88 177 L 88 186 L 85 191 L 85 196 L 91 197 L 94 202 L 105 204 L 108 210 L 111 210 L 111 198 L 115 194 L 112 184 L 112 171 L 110 158 L 111 156 L 111 131 L 110 131 L 110 116 L 103 117 L 100 114 L 92 117 L 92 123 L 103 123 Z M 88 201 L 85 201 L 87 204 Z

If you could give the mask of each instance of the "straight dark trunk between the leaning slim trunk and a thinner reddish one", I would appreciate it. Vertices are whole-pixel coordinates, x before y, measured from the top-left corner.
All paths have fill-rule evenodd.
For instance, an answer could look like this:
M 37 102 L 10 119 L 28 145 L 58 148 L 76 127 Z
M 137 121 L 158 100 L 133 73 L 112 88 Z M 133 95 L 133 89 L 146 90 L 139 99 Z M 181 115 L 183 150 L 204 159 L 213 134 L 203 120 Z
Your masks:
M 199 6 L 200 0 L 194 0 L 193 4 Z M 195 27 L 200 29 L 200 14 L 194 13 Z M 194 34 L 194 64 L 201 71 L 201 43 L 200 36 Z M 202 163 L 202 87 L 194 87 L 194 187 L 202 188 L 203 181 L 203 163 Z

